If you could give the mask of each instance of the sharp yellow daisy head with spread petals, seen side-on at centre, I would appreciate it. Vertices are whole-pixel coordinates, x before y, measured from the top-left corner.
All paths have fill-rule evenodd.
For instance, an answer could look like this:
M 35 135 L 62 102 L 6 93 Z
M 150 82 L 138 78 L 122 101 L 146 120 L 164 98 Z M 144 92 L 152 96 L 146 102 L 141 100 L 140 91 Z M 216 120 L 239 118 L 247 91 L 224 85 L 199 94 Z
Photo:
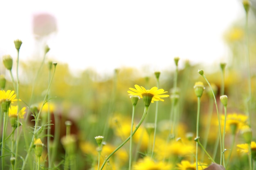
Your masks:
M 163 95 L 168 92 L 164 91 L 162 88 L 157 89 L 157 87 L 152 87 L 150 90 L 146 90 L 146 88 L 137 84 L 135 84 L 135 88 L 129 88 L 131 91 L 127 92 L 130 93 L 130 96 L 139 96 L 140 98 L 143 98 L 145 106 L 149 106 L 150 102 L 164 101 L 161 97 L 169 97 L 169 95 Z

